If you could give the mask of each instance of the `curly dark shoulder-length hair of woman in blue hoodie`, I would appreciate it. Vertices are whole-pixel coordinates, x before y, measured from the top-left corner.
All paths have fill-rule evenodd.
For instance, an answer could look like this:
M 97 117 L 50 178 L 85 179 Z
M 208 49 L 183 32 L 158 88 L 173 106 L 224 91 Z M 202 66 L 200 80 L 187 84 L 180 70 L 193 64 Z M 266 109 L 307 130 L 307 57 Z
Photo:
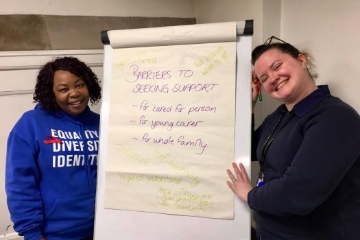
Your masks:
M 53 93 L 53 75 L 57 70 L 69 71 L 81 77 L 88 87 L 88 94 L 91 105 L 97 104 L 101 99 L 100 81 L 93 71 L 86 64 L 73 57 L 58 57 L 51 62 L 47 62 L 41 67 L 36 78 L 34 102 L 39 102 L 41 108 L 50 112 L 58 110 L 55 95 Z

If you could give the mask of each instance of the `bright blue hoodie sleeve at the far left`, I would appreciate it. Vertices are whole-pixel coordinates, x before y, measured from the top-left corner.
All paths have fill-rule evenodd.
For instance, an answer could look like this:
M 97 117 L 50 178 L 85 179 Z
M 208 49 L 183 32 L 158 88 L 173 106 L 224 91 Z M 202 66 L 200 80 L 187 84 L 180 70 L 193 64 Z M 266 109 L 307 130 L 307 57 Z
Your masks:
M 29 240 L 43 237 L 43 206 L 38 189 L 40 173 L 35 156 L 26 141 L 10 133 L 5 169 L 8 208 L 14 229 Z

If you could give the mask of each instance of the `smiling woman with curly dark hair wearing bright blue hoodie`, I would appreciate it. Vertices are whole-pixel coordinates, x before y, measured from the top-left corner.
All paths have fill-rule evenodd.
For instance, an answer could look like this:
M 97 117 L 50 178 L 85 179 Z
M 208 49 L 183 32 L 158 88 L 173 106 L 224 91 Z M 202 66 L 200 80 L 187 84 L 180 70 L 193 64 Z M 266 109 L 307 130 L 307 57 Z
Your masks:
M 34 110 L 8 138 L 5 189 L 14 229 L 25 239 L 92 239 L 99 147 L 97 76 L 77 58 L 40 69 Z

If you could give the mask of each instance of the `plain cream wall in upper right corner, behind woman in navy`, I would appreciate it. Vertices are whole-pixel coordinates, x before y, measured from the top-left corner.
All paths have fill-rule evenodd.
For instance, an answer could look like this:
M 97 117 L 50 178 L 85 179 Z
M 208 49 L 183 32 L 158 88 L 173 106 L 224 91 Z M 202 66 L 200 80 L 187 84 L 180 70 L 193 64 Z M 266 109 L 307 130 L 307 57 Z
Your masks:
M 317 84 L 360 112 L 360 1 L 283 0 L 281 38 L 315 57 Z

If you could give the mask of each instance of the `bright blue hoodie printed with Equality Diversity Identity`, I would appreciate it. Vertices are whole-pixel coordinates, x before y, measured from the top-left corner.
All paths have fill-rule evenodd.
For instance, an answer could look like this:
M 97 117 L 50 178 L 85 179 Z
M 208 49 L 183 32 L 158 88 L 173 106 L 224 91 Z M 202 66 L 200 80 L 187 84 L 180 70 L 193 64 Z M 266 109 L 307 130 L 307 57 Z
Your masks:
M 8 139 L 5 189 L 14 229 L 25 239 L 93 235 L 99 115 L 76 117 L 39 104 Z

